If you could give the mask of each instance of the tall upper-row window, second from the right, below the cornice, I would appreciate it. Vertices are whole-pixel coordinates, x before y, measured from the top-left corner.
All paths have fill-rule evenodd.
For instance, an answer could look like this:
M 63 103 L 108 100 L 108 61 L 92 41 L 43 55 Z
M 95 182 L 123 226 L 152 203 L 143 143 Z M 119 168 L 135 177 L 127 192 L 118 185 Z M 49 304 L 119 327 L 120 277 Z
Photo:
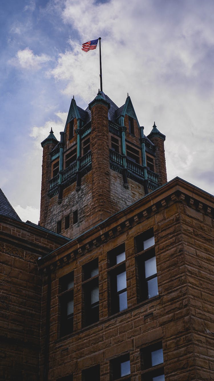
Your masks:
M 108 253 L 110 269 L 109 279 L 109 312 L 111 315 L 127 309 L 125 245 L 120 245 Z

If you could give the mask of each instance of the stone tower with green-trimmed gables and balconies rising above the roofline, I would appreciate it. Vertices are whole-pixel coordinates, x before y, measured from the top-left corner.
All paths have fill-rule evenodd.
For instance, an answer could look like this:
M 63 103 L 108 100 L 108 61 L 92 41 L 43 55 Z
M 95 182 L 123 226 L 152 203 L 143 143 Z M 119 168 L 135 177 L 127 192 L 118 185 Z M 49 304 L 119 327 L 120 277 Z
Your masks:
M 129 96 L 118 107 L 99 91 L 86 110 L 73 98 L 60 141 L 51 131 L 41 143 L 41 226 L 74 238 L 164 184 L 154 127 L 144 136 Z

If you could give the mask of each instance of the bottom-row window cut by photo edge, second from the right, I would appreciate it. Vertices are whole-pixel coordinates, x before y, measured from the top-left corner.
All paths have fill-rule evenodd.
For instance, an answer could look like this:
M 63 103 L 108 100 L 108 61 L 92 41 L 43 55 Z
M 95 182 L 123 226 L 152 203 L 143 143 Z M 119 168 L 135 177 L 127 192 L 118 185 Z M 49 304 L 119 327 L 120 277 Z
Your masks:
M 111 379 L 117 380 L 121 377 L 130 375 L 130 359 L 129 354 L 117 357 L 110 362 Z M 123 378 L 124 379 L 124 378 Z M 128 378 L 129 379 L 129 378 Z M 125 378 L 124 380 L 128 380 Z

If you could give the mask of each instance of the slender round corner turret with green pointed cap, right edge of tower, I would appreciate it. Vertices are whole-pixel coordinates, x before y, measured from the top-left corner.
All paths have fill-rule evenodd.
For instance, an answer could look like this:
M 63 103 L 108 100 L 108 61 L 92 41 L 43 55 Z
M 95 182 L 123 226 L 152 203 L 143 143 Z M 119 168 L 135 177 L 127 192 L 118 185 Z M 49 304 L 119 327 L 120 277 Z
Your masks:
M 158 177 L 158 185 L 166 184 L 167 182 L 167 174 L 166 174 L 166 160 L 165 160 L 165 150 L 164 150 L 164 141 L 166 136 L 163 135 L 155 126 L 152 128 L 151 133 L 147 136 L 152 143 L 154 143 L 155 149 L 155 167 L 156 172 L 159 175 Z

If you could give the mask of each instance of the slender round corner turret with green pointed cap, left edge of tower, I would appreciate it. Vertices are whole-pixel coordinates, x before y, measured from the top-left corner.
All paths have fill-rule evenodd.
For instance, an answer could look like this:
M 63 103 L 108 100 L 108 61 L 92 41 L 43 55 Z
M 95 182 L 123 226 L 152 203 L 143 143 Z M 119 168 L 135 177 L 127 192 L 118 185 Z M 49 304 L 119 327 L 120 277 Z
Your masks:
M 48 213 L 49 206 L 49 195 L 48 191 L 50 189 L 49 180 L 52 177 L 51 173 L 51 156 L 49 153 L 56 146 L 58 140 L 55 138 L 52 128 L 48 138 L 41 142 L 43 147 L 43 157 L 42 157 L 42 178 L 41 178 L 41 204 L 40 204 L 40 225 L 45 226 L 46 217 Z

